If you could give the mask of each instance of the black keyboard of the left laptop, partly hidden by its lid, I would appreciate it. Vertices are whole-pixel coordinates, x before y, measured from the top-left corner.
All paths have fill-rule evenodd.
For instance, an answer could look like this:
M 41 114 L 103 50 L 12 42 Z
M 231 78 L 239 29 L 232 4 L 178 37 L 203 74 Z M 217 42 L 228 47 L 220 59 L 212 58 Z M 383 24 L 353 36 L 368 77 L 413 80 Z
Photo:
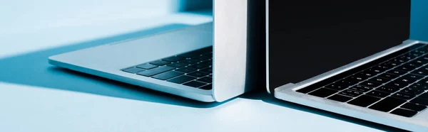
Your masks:
M 213 47 L 146 62 L 122 71 L 209 90 L 213 88 Z

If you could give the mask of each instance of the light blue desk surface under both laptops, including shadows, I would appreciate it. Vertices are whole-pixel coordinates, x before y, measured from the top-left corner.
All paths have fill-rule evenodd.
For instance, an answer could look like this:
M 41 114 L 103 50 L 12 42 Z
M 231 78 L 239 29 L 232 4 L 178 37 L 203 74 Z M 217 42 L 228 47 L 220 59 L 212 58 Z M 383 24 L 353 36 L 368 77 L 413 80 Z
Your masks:
M 2 34 L 0 131 L 396 130 L 280 101 L 263 90 L 201 103 L 47 63 L 50 55 L 207 21 L 209 16 L 178 13 L 150 21 Z

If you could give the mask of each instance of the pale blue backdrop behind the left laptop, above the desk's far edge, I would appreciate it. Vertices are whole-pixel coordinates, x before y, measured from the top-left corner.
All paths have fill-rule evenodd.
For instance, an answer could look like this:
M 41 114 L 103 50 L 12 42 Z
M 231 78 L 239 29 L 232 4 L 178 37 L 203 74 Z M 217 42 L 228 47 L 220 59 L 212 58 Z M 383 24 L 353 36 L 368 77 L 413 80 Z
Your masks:
M 211 0 L 1 1 L 0 34 L 153 18 L 211 6 Z

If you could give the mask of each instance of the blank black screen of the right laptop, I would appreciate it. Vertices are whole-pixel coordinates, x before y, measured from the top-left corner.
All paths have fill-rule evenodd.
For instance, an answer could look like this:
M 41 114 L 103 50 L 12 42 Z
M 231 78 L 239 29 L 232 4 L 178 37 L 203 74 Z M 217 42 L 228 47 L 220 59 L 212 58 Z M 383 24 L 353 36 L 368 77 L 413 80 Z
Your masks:
M 410 1 L 269 1 L 272 92 L 364 57 L 409 37 Z

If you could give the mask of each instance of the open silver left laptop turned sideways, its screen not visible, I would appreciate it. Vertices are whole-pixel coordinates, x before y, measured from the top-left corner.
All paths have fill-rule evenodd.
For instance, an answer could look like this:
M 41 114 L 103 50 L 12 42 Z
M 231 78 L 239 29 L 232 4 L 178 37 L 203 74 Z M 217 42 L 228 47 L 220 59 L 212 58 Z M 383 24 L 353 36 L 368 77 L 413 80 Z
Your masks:
M 49 63 L 188 99 L 225 101 L 251 89 L 245 82 L 253 77 L 251 7 L 246 0 L 213 1 L 211 23 L 54 55 Z

